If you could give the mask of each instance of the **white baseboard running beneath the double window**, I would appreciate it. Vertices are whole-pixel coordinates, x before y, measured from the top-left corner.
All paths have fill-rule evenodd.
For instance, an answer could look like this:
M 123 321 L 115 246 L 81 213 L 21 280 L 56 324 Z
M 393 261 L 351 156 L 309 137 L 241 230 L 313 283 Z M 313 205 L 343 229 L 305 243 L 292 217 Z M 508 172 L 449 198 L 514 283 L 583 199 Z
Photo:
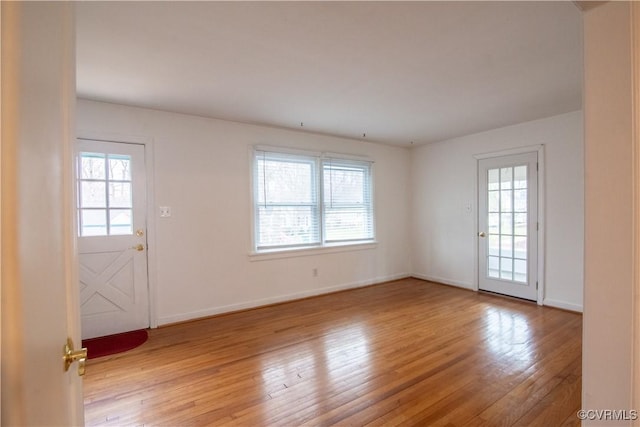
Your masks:
M 278 295 L 270 298 L 263 298 L 259 300 L 241 302 L 238 304 L 230 304 L 230 305 L 225 305 L 221 307 L 212 307 L 209 309 L 192 311 L 189 313 L 174 314 L 171 316 L 159 317 L 158 326 L 185 322 L 188 320 L 195 320 L 195 319 L 215 316 L 217 314 L 230 313 L 230 312 L 239 311 L 239 310 L 248 310 L 250 308 L 263 307 L 265 305 L 293 301 L 301 298 L 308 298 L 308 297 L 313 297 L 318 295 L 330 294 L 332 292 L 338 292 L 338 291 L 343 291 L 347 289 L 356 289 L 356 288 L 361 288 L 363 286 L 375 285 L 378 283 L 389 282 L 392 280 L 405 279 L 407 277 L 412 277 L 412 275 L 409 273 L 393 274 L 390 276 L 381 276 L 373 279 L 345 283 L 342 285 L 330 286 L 326 288 L 311 289 L 308 291 L 296 292 L 293 294 Z

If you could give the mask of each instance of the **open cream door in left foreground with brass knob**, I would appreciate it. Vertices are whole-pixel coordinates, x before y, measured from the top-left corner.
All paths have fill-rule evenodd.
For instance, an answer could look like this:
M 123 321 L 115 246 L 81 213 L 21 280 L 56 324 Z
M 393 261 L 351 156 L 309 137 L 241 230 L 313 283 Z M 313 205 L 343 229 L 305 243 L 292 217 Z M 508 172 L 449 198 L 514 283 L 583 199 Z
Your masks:
M 83 425 L 71 176 L 74 4 L 2 2 L 2 424 Z M 37 125 L 35 125 L 37 124 Z

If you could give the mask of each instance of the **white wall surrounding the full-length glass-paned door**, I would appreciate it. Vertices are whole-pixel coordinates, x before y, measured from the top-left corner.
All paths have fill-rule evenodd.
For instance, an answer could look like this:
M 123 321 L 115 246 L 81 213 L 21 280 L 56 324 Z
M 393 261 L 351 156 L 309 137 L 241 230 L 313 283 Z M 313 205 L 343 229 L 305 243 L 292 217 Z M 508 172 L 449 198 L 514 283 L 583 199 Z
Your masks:
M 473 289 L 477 160 L 474 155 L 545 145 L 544 303 L 582 310 L 584 197 L 582 112 L 414 149 L 412 264 L 417 277 Z M 474 206 L 472 212 L 466 205 Z

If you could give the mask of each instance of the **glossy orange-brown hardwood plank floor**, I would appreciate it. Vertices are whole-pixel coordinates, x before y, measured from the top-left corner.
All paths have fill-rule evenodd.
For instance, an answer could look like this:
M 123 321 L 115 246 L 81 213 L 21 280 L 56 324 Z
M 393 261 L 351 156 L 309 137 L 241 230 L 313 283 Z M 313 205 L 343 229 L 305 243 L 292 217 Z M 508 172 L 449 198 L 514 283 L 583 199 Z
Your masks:
M 87 425 L 579 425 L 582 316 L 417 279 L 150 331 Z

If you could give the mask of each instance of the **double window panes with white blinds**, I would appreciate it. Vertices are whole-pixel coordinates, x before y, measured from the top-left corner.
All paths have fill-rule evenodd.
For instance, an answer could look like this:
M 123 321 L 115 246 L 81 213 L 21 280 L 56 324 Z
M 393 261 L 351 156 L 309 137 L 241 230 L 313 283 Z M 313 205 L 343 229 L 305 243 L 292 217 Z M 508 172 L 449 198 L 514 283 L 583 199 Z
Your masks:
M 372 163 L 255 149 L 254 249 L 372 242 Z

